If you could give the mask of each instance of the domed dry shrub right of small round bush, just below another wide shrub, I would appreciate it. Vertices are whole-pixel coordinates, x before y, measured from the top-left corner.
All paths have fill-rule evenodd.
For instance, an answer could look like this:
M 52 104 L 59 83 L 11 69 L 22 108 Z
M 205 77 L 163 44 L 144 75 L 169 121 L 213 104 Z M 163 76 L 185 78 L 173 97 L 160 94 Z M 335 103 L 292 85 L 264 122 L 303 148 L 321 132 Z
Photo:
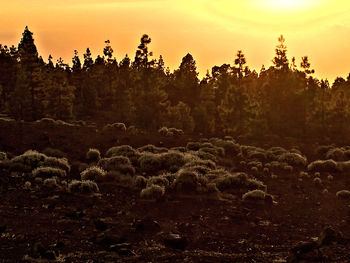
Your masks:
M 106 171 L 116 171 L 130 175 L 135 174 L 135 168 L 131 165 L 129 158 L 125 156 L 113 156 L 101 159 L 97 166 L 102 167 Z

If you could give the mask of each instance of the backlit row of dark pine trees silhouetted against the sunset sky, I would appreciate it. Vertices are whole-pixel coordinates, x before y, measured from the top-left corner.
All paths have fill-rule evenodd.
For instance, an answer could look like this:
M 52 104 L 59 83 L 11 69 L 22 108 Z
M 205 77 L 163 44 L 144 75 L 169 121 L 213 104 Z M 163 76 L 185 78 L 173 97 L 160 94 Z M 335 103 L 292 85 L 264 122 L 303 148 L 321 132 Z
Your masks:
M 152 58 L 143 35 L 131 60 L 113 56 L 110 41 L 93 59 L 74 51 L 71 66 L 39 56 L 25 28 L 18 47 L 0 45 L 0 110 L 18 120 L 43 117 L 97 124 L 124 122 L 140 129 L 162 126 L 186 133 L 288 137 L 346 136 L 350 131 L 350 77 L 332 85 L 313 77 L 309 58 L 287 57 L 280 36 L 269 68 L 250 70 L 238 51 L 231 64 L 199 79 L 191 54 L 173 72 Z

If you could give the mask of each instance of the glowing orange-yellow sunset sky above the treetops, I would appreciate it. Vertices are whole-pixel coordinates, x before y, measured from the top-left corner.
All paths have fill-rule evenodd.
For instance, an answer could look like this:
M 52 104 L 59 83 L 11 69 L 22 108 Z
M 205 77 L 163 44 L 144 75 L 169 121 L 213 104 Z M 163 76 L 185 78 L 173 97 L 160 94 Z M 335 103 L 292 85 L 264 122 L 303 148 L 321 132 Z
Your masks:
M 134 57 L 142 34 L 150 50 L 175 69 L 188 52 L 201 75 L 232 63 L 237 50 L 258 72 L 272 64 L 283 34 L 288 57 L 308 55 L 319 78 L 350 72 L 350 2 L 343 0 L 0 0 L 0 43 L 17 45 L 25 25 L 45 60 L 71 63 L 90 47 L 96 57 L 109 39 L 120 61 Z

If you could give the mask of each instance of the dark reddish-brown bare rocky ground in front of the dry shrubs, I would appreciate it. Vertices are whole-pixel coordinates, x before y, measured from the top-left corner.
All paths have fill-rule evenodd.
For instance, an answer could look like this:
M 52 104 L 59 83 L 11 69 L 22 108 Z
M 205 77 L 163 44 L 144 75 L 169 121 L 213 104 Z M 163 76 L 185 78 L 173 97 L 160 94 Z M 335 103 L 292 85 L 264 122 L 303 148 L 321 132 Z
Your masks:
M 224 193 L 146 201 L 110 183 L 26 191 L 1 176 L 0 262 L 350 262 L 350 201 L 335 195 L 346 175 L 328 193 L 293 173 L 267 177 L 272 205 Z

